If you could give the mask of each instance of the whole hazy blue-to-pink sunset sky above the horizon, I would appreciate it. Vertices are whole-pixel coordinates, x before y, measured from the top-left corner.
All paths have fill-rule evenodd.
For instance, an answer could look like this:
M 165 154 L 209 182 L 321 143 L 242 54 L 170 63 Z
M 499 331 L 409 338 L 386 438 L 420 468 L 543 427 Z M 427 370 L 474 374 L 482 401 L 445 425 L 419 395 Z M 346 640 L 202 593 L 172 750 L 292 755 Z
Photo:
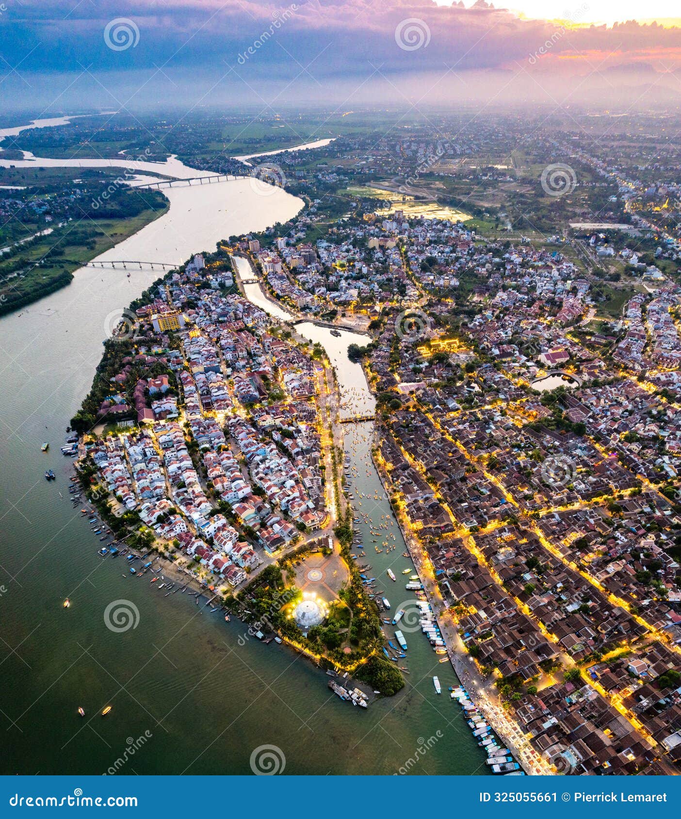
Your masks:
M 0 103 L 679 104 L 669 0 L 511 4 L 2 0 Z

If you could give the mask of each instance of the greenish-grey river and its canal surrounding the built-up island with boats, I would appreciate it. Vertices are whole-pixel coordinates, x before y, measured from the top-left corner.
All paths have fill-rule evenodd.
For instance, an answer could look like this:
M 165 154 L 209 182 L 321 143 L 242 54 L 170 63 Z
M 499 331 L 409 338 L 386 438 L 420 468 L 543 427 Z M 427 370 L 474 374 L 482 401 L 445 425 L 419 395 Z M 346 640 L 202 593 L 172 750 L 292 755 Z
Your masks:
M 7 164 L 24 162 L 68 164 Z M 201 175 L 176 161 L 172 170 L 111 164 Z M 170 210 L 101 258 L 175 263 L 231 234 L 290 219 L 302 207 L 279 188 L 269 196 L 261 189 L 247 179 L 166 189 Z M 81 269 L 69 287 L 0 319 L 0 724 L 6 730 L 0 771 L 98 774 L 143 737 L 121 773 L 248 773 L 254 749 L 270 744 L 284 753 L 287 774 L 391 774 L 402 767 L 420 774 L 486 774 L 484 754 L 447 696 L 456 676 L 448 663 L 438 663 L 420 633 L 405 634 L 406 687 L 361 711 L 332 695 L 328 677 L 293 650 L 253 639 L 240 645 L 240 623 L 225 623 L 186 595 L 168 600 L 147 581 L 125 577 L 120 561 L 98 557 L 97 538 L 71 509 L 66 486 L 72 463 L 59 445 L 92 382 L 111 314 L 156 276 Z M 271 312 L 281 310 L 257 285 L 247 285 L 247 296 Z M 370 409 L 361 368 L 345 352 L 352 333 L 335 338 L 314 324 L 298 330 L 325 346 L 347 411 Z M 362 503 L 357 510 L 368 512 L 374 526 L 393 521 L 370 461 L 371 424 L 345 429 L 356 503 Z M 46 440 L 52 446 L 43 454 Z M 48 467 L 56 482 L 44 480 Z M 380 585 L 394 611 L 411 596 L 400 573 L 411 563 L 402 558 L 397 524 L 388 526 L 397 538 L 390 554 L 371 554 L 370 527 L 362 523 L 361 529 L 370 573 L 384 578 Z M 391 566 L 397 583 L 386 577 Z M 71 608 L 62 609 L 67 596 Z M 136 627 L 109 631 L 104 610 L 114 600 L 134 604 Z M 392 637 L 392 627 L 386 629 Z M 113 709 L 106 719 L 90 718 L 107 704 Z M 76 713 L 79 706 L 86 719 Z

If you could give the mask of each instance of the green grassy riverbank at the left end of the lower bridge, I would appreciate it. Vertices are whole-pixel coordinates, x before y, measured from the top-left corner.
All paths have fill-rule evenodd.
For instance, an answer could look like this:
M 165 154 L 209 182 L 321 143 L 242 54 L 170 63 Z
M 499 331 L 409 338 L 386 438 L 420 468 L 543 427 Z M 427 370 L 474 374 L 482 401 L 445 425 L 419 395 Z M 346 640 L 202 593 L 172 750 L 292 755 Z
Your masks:
M 59 256 L 43 260 L 39 267 L 31 269 L 26 274 L 18 273 L 13 278 L 2 278 L 0 315 L 18 310 L 32 301 L 48 296 L 61 287 L 66 287 L 73 279 L 74 270 L 137 233 L 138 230 L 165 212 L 165 210 L 143 210 L 138 215 L 127 219 L 98 219 L 96 221 L 88 219 L 83 220 L 82 224 L 76 223 L 80 224 L 81 228 L 85 226 L 86 234 L 83 229 L 76 229 L 73 224 L 66 224 L 36 244 L 16 251 L 14 256 L 4 258 L 0 262 L 0 276 L 2 276 L 2 263 L 11 264 L 16 261 L 17 256 L 21 260 L 26 260 L 26 266 L 29 266 L 31 262 L 43 259 L 52 251 L 57 241 L 60 242 L 61 251 L 63 251 Z M 87 235 L 87 240 L 85 240 L 85 235 Z

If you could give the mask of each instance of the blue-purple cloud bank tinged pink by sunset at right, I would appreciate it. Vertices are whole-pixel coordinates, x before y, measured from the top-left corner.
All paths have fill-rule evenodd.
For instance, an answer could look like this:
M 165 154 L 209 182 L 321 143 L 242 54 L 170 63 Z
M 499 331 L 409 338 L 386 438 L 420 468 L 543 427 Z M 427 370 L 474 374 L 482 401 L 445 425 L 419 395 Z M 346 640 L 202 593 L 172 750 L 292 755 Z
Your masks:
M 304 79 L 310 87 L 369 77 L 389 87 L 418 75 L 448 83 L 468 72 L 505 70 L 544 83 L 547 75 L 642 62 L 656 72 L 681 66 L 681 29 L 633 21 L 579 25 L 587 9 L 572 2 L 572 22 L 561 24 L 521 20 L 484 0 L 470 8 L 434 0 L 98 0 L 75 8 L 72 0 L 37 0 L 0 17 L 0 53 L 30 75 L 161 70 L 243 84 Z M 103 32 L 121 17 L 134 21 L 139 38 L 117 51 L 107 48 Z

